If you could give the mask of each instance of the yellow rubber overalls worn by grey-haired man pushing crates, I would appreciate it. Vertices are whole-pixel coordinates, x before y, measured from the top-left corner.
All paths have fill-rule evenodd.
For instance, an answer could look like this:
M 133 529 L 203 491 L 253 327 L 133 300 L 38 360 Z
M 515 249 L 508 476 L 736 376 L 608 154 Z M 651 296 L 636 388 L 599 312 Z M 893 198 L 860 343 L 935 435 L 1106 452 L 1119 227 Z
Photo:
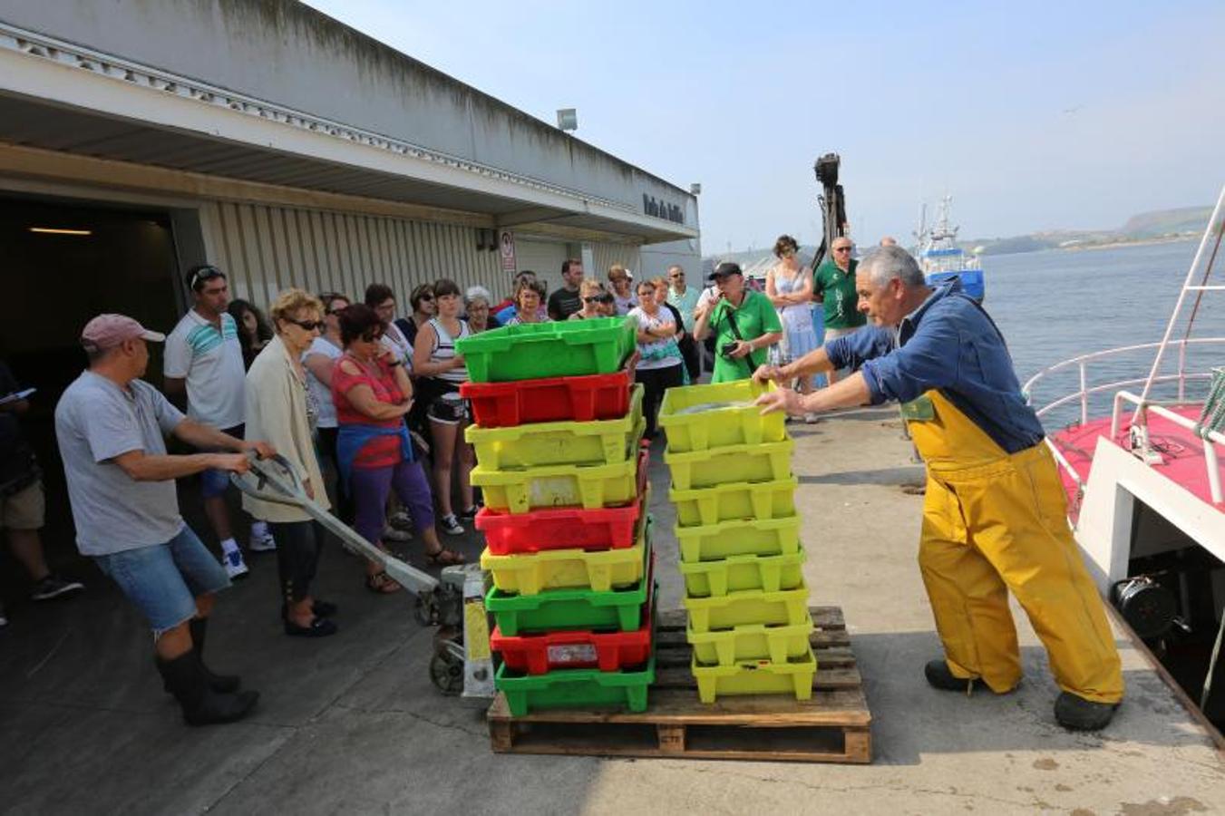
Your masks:
M 1061 689 L 1122 700 L 1115 638 L 1046 445 L 1008 453 L 936 390 L 903 415 L 927 464 L 919 567 L 953 675 L 997 693 L 1020 681 L 1011 589 Z

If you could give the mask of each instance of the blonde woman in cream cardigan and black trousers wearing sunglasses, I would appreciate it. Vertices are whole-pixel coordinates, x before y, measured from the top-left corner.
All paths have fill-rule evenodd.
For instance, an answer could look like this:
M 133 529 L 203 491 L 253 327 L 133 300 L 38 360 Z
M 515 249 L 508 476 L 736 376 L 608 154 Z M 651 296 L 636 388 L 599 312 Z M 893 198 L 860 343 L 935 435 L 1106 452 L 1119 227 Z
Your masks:
M 307 495 L 327 508 L 327 491 L 315 456 L 314 425 L 318 414 L 301 364 L 303 353 L 323 327 L 323 304 L 301 289 L 285 289 L 268 316 L 276 331 L 246 372 L 246 428 L 251 439 L 267 440 L 298 470 Z M 285 635 L 325 637 L 336 633 L 330 615 L 336 606 L 311 595 L 323 531 L 303 510 L 243 496 L 243 508 L 268 522 L 277 539 L 281 616 Z

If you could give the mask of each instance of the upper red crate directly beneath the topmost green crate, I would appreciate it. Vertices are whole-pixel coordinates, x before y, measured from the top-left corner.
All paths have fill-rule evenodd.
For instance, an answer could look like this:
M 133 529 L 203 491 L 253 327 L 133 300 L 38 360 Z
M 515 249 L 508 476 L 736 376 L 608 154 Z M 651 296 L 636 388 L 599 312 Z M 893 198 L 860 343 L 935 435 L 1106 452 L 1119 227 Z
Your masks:
M 628 371 L 583 377 L 548 377 L 516 382 L 464 382 L 459 396 L 472 401 L 481 428 L 528 423 L 579 423 L 620 419 L 630 410 Z

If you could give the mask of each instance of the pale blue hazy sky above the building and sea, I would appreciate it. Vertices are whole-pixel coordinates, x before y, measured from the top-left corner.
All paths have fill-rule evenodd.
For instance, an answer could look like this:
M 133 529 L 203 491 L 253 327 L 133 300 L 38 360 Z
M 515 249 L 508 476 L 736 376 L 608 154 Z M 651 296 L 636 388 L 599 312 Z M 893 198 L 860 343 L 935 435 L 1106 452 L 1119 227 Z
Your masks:
M 963 238 L 1111 228 L 1225 183 L 1225 2 L 310 5 L 685 189 L 702 249 L 905 238 L 948 192 Z

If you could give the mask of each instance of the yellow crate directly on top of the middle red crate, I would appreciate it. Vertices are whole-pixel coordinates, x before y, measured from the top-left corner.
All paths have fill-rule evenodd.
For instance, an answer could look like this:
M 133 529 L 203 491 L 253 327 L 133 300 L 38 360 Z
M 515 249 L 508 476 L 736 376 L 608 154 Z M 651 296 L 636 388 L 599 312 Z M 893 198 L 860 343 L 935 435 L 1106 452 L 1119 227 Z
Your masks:
M 478 464 L 472 469 L 472 483 L 484 493 L 486 507 L 503 512 L 616 507 L 638 496 L 638 458 L 616 464 L 556 464 L 524 470 L 495 470 Z

